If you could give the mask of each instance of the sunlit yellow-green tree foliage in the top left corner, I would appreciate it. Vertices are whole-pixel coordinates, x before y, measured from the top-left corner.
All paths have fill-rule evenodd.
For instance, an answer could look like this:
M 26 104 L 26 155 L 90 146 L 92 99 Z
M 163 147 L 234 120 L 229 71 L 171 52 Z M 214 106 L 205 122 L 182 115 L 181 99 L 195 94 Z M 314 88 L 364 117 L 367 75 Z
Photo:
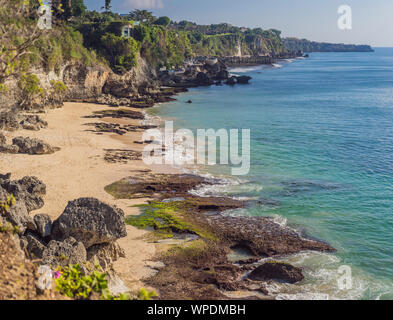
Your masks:
M 30 49 L 42 31 L 25 0 L 0 0 L 0 85 L 28 69 Z

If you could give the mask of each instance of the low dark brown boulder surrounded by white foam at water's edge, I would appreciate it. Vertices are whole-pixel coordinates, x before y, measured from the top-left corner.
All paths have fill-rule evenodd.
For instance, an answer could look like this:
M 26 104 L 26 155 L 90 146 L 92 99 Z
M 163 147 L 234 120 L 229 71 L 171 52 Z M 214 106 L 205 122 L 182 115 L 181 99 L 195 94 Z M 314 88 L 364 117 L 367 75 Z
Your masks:
M 302 269 L 276 261 L 264 263 L 253 270 L 248 277 L 257 281 L 278 280 L 287 283 L 296 283 L 304 279 Z

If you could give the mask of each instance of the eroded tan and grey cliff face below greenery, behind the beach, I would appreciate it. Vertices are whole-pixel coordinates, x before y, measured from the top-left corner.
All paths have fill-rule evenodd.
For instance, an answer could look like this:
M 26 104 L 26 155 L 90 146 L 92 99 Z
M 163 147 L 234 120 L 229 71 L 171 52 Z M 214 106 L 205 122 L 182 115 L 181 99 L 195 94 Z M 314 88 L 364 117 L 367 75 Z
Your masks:
M 158 88 L 156 71 L 145 60 L 138 58 L 137 67 L 124 75 L 117 75 L 105 65 L 88 67 L 74 62 L 63 65 L 58 72 L 46 72 L 43 68 L 30 70 L 39 79 L 44 94 L 31 103 L 31 109 L 61 107 L 64 101 L 104 102 L 100 98 L 111 95 L 116 98 L 139 98 Z M 56 92 L 54 82 L 62 82 L 66 91 Z M 22 91 L 18 80 L 5 83 L 7 91 L 0 93 L 0 111 L 17 109 Z M 102 99 L 101 99 L 102 100 Z M 105 99 L 104 99 L 105 100 Z

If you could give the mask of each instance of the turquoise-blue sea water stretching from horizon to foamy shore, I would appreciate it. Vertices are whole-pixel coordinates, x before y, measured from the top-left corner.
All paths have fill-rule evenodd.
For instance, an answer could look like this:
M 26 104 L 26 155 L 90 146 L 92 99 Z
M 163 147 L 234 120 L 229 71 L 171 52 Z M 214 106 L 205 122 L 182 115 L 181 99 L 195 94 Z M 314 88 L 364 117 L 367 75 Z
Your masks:
M 393 48 L 279 64 L 235 69 L 252 83 L 192 89 L 154 113 L 181 128 L 251 129 L 250 173 L 214 191 L 274 200 L 237 214 L 275 216 L 338 250 L 284 258 L 308 280 L 283 298 L 392 299 Z M 352 289 L 337 287 L 341 265 Z

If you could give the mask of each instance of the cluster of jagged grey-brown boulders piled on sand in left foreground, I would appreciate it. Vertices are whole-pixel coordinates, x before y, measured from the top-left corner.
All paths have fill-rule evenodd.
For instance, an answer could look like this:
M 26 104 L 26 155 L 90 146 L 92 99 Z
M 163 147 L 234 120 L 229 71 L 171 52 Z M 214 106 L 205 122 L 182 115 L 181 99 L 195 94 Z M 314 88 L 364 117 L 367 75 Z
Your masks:
M 116 240 L 127 235 L 122 210 L 97 199 L 70 201 L 63 214 L 52 222 L 45 214 L 30 216 L 44 205 L 46 186 L 35 177 L 11 180 L 0 175 L 0 202 L 8 208 L 0 212 L 0 227 L 15 230 L 19 245 L 32 259 L 52 267 L 81 264 L 84 272 L 100 265 L 110 270 L 124 257 Z M 11 195 L 15 197 L 13 202 Z

